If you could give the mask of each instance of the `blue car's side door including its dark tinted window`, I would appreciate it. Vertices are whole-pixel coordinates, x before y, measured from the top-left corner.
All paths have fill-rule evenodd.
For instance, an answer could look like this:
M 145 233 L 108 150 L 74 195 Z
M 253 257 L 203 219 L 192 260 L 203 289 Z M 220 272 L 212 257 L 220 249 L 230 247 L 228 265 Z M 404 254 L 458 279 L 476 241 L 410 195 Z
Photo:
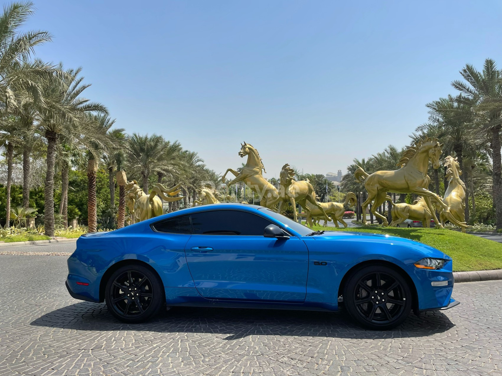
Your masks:
M 295 236 L 265 238 L 272 221 L 238 210 L 191 215 L 185 245 L 197 291 L 208 299 L 303 302 L 308 250 Z

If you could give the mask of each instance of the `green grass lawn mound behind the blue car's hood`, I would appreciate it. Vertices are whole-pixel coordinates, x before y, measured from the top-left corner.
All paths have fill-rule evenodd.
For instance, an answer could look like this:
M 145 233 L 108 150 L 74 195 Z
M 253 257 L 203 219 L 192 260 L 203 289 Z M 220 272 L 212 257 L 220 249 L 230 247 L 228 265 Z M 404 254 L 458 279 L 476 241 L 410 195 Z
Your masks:
M 439 249 L 453 259 L 453 271 L 502 269 L 502 243 L 458 231 L 422 228 L 355 227 L 335 229 L 315 226 L 313 230 L 357 231 L 408 238 Z

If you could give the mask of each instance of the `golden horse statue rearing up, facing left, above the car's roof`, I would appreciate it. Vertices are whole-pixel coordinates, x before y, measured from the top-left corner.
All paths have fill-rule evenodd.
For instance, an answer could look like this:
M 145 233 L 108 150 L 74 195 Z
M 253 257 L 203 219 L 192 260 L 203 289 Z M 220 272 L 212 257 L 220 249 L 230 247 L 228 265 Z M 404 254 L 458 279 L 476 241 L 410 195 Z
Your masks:
M 260 196 L 260 205 L 272 209 L 276 211 L 276 204 L 279 201 L 279 193 L 277 188 L 272 185 L 265 177 L 263 177 L 263 172 L 265 171 L 265 167 L 262 162 L 262 158 L 260 158 L 260 154 L 258 154 L 258 150 L 244 141 L 243 144 L 240 144 L 240 151 L 238 155 L 242 158 L 244 155 L 247 155 L 247 161 L 244 167 L 240 170 L 240 172 L 235 171 L 232 168 L 228 168 L 226 172 L 221 177 L 221 181 L 225 182 L 225 176 L 228 172 L 231 172 L 235 179 L 231 180 L 227 185 L 230 186 L 232 184 L 238 183 L 239 181 L 243 181 L 254 193 Z

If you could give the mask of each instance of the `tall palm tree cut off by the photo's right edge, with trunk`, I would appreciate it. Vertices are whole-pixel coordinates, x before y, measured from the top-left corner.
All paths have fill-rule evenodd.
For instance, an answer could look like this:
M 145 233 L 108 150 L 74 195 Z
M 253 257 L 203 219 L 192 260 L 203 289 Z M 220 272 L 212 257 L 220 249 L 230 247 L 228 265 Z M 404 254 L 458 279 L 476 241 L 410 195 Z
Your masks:
M 500 131 L 502 130 L 502 72 L 495 61 L 486 59 L 479 72 L 466 64 L 460 71 L 463 81 L 456 80 L 452 86 L 463 95 L 463 102 L 473 106 L 474 123 L 490 143 L 493 162 L 493 206 L 497 230 L 502 229 L 502 154 Z

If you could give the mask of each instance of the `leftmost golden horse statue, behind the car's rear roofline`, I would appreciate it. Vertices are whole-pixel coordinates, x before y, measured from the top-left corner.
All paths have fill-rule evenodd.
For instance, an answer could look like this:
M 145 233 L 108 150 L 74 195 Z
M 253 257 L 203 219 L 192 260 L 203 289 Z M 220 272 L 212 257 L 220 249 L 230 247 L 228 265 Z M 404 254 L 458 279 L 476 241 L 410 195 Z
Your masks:
M 164 185 L 157 183 L 150 192 L 150 195 L 147 195 L 140 188 L 136 180 L 128 182 L 126 184 L 126 203 L 134 223 L 162 216 L 162 201 L 157 195 L 167 202 L 182 200 L 182 196 L 173 197 L 180 193 L 180 185 L 181 183 L 178 183 L 171 189 L 166 189 Z

